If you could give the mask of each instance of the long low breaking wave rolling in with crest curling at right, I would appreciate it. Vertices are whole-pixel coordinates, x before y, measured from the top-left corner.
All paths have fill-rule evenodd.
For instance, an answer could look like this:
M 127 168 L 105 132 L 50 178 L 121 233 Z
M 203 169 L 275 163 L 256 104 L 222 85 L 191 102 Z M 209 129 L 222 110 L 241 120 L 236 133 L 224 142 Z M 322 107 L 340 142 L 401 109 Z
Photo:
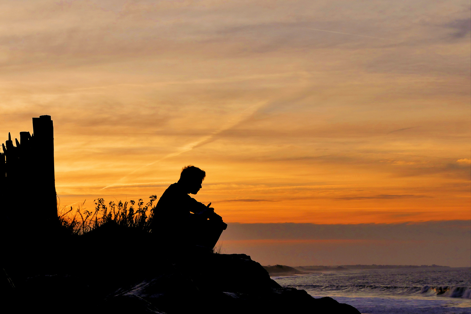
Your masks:
M 286 287 L 302 289 L 306 291 L 344 291 L 344 292 L 378 292 L 390 295 L 415 295 L 415 296 L 438 296 L 449 298 L 471 299 L 470 287 L 449 287 L 449 286 L 423 286 L 423 287 L 395 287 L 395 286 L 375 286 L 375 285 L 287 285 Z

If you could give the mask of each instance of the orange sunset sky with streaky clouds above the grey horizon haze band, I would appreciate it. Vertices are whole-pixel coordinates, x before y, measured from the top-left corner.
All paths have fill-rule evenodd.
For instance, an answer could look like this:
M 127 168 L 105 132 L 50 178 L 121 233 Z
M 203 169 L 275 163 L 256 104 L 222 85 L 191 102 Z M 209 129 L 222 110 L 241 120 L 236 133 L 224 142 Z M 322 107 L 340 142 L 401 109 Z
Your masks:
M 469 9 L 1 1 L 0 135 L 52 116 L 62 205 L 193 164 L 227 222 L 471 219 Z

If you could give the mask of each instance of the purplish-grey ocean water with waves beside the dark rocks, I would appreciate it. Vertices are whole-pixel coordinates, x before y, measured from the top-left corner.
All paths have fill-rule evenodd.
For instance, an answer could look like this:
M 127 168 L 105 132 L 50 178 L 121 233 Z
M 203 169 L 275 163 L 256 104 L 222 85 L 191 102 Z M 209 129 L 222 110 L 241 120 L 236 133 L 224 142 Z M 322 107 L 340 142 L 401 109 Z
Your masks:
M 471 314 L 471 268 L 348 270 L 272 277 L 368 314 Z

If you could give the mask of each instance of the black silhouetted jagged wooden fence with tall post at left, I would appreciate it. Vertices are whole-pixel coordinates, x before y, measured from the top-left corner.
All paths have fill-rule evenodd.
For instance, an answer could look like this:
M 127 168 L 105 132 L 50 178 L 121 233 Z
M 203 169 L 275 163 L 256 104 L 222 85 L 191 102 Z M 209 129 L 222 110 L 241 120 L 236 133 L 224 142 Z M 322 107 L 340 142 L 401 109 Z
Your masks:
M 57 226 L 54 178 L 54 129 L 49 115 L 32 118 L 33 134 L 8 133 L 0 153 L 2 241 L 50 233 Z M 16 239 L 5 239 L 16 237 Z

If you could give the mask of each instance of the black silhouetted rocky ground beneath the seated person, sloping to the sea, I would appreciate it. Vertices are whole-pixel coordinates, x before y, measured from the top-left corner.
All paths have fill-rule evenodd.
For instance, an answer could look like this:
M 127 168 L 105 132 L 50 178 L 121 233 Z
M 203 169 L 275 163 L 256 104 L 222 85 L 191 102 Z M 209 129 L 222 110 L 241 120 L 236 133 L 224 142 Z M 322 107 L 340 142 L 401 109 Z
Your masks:
M 111 221 L 10 248 L 2 313 L 360 314 L 281 287 L 245 254 L 162 252 L 153 241 L 152 233 Z

